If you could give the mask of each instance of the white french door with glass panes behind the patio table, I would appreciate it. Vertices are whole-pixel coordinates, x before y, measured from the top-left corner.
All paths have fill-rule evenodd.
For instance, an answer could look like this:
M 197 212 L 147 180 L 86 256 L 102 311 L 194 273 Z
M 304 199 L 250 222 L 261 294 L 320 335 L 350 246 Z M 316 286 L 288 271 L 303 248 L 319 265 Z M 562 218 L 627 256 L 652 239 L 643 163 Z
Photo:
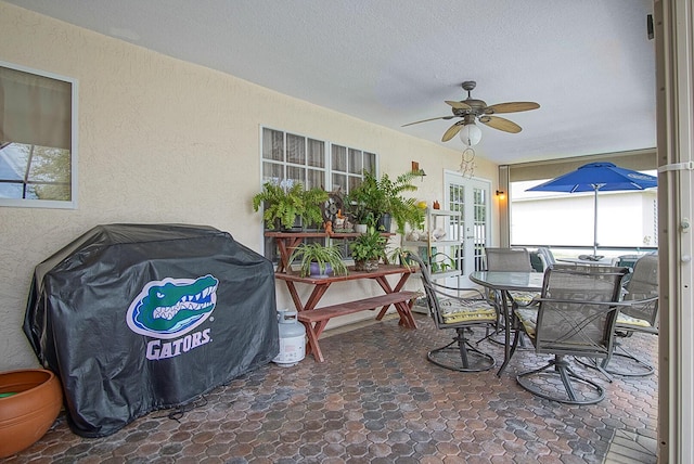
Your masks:
M 481 270 L 485 246 L 491 242 L 491 182 L 471 179 L 460 172 L 444 171 L 445 208 L 461 211 L 463 242 L 455 254 L 461 275 L 457 282 L 460 287 L 475 286 L 468 280 L 473 271 Z

